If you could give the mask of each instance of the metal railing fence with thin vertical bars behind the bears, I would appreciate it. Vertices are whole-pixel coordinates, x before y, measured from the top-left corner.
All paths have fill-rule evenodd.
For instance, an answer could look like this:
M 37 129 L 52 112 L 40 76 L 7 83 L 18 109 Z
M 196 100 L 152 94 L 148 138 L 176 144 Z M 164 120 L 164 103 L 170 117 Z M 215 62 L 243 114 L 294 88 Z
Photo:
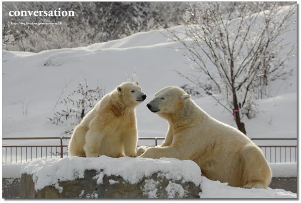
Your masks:
M 70 137 L 15 137 L 2 138 L 2 140 L 35 140 L 35 139 L 57 139 L 60 145 L 2 145 L 2 163 L 22 163 L 39 158 L 63 158 L 67 157 L 68 145 L 63 144 Z M 158 146 L 159 140 L 165 137 L 139 137 L 138 140 L 154 140 Z M 251 138 L 251 140 L 297 140 L 297 138 Z M 137 147 L 142 145 L 137 145 Z M 269 163 L 297 162 L 297 145 L 259 145 Z M 50 154 L 49 154 L 50 153 Z

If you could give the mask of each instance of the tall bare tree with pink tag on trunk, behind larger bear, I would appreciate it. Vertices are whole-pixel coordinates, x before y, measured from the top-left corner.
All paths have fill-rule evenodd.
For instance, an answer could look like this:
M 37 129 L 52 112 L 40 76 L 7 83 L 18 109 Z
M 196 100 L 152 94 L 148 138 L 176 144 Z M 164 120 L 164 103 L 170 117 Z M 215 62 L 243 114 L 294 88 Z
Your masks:
M 269 10 L 254 13 L 263 8 L 262 2 L 252 2 L 252 6 L 250 2 L 232 2 L 225 13 L 220 2 L 192 3 L 184 15 L 186 38 L 170 30 L 172 37 L 184 45 L 185 56 L 193 62 L 190 66 L 200 73 L 179 74 L 209 95 L 219 92 L 231 110 L 224 107 L 244 134 L 241 114 L 252 118 L 255 99 L 264 94 L 268 82 L 289 72 L 285 63 L 296 53 L 296 45 L 285 54 L 281 50 L 287 46 L 283 35 L 296 22 L 296 7 L 273 2 Z M 200 81 L 204 79 L 211 81 L 209 89 Z

